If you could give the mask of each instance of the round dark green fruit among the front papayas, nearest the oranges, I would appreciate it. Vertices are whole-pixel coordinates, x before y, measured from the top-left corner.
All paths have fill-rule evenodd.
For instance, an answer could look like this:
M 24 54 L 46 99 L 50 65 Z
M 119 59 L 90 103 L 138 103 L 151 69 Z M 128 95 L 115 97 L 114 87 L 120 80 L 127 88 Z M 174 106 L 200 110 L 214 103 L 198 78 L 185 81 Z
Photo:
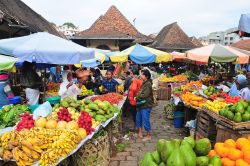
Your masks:
M 198 140 L 194 147 L 194 151 L 197 156 L 207 156 L 210 150 L 211 150 L 211 142 L 207 138 Z

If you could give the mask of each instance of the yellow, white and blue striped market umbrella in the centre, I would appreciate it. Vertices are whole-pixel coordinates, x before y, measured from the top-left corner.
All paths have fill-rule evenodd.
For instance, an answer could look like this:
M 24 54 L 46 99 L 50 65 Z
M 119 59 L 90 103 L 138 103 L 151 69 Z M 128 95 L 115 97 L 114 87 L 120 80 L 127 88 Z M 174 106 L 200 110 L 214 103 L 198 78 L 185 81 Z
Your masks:
M 128 57 L 137 64 L 160 63 L 172 60 L 172 56 L 164 51 L 136 44 L 110 56 L 111 62 L 126 62 Z

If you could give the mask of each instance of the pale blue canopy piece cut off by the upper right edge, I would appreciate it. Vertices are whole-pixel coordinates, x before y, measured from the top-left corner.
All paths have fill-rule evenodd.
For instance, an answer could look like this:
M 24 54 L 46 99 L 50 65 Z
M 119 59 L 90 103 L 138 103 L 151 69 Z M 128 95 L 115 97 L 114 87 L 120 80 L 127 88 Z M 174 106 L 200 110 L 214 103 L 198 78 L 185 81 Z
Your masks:
M 242 36 L 250 37 L 250 14 L 241 15 L 238 30 L 246 33 L 242 34 Z

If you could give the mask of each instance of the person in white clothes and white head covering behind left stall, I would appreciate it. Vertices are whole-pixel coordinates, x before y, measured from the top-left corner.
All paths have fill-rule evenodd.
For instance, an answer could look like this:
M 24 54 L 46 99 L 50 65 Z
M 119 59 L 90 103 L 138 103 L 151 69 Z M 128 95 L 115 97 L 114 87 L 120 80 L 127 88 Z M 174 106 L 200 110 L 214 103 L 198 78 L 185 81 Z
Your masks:
M 73 83 L 72 73 L 70 71 L 63 71 L 62 79 L 63 82 L 60 85 L 58 95 L 61 96 L 61 99 L 64 99 L 66 97 L 72 97 L 74 99 L 77 99 L 79 89 Z

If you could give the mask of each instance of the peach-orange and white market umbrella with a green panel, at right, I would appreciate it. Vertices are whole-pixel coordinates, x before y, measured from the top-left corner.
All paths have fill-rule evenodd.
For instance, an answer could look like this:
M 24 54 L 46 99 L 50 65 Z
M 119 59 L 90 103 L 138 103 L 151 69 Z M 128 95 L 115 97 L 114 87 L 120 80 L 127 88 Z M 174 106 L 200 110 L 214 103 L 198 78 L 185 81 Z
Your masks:
M 211 44 L 195 48 L 186 52 L 187 58 L 192 61 L 208 63 L 209 59 L 214 62 L 239 62 L 248 63 L 249 56 L 233 47 Z

